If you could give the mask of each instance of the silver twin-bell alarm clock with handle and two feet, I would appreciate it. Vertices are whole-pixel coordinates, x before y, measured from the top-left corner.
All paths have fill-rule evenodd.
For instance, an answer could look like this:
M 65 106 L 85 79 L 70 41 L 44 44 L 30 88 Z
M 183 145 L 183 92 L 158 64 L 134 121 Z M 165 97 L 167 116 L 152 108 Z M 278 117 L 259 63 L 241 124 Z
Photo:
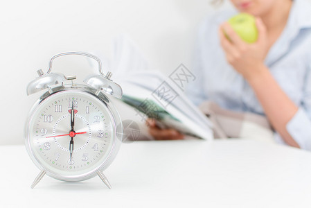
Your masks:
M 93 58 L 99 74 L 76 84 L 75 76 L 51 73 L 53 60 L 63 55 Z M 44 94 L 30 110 L 24 133 L 28 155 L 40 170 L 31 188 L 44 175 L 66 182 L 98 175 L 110 189 L 103 171 L 118 153 L 123 127 L 109 98 L 121 98 L 121 87 L 112 81 L 111 72 L 104 75 L 99 58 L 89 53 L 59 53 L 51 58 L 46 73 L 41 69 L 37 73 L 39 77 L 28 84 L 27 94 Z

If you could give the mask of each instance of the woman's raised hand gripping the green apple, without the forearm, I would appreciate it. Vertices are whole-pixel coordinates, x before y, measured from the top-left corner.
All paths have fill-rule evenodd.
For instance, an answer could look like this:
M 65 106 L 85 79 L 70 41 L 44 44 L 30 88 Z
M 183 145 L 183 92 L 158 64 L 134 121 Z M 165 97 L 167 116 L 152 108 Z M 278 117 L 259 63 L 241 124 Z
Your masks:
M 220 42 L 227 61 L 247 80 L 260 73 L 268 52 L 267 31 L 260 18 L 256 18 L 256 26 L 258 40 L 254 44 L 244 42 L 227 22 L 224 22 L 219 29 Z

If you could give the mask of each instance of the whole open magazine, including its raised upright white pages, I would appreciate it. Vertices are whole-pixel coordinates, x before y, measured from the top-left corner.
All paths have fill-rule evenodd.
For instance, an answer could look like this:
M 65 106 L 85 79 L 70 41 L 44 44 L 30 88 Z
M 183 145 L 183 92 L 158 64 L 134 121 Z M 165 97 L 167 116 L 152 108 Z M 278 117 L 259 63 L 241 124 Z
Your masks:
M 161 128 L 175 128 L 185 135 L 213 139 L 212 124 L 179 87 L 159 71 L 146 71 L 148 62 L 134 41 L 125 34 L 118 35 L 113 44 L 112 59 L 96 53 L 105 60 L 105 67 L 114 73 L 114 81 L 123 89 L 122 101 L 136 110 L 142 121 L 157 119 Z M 97 63 L 90 64 L 97 69 Z

